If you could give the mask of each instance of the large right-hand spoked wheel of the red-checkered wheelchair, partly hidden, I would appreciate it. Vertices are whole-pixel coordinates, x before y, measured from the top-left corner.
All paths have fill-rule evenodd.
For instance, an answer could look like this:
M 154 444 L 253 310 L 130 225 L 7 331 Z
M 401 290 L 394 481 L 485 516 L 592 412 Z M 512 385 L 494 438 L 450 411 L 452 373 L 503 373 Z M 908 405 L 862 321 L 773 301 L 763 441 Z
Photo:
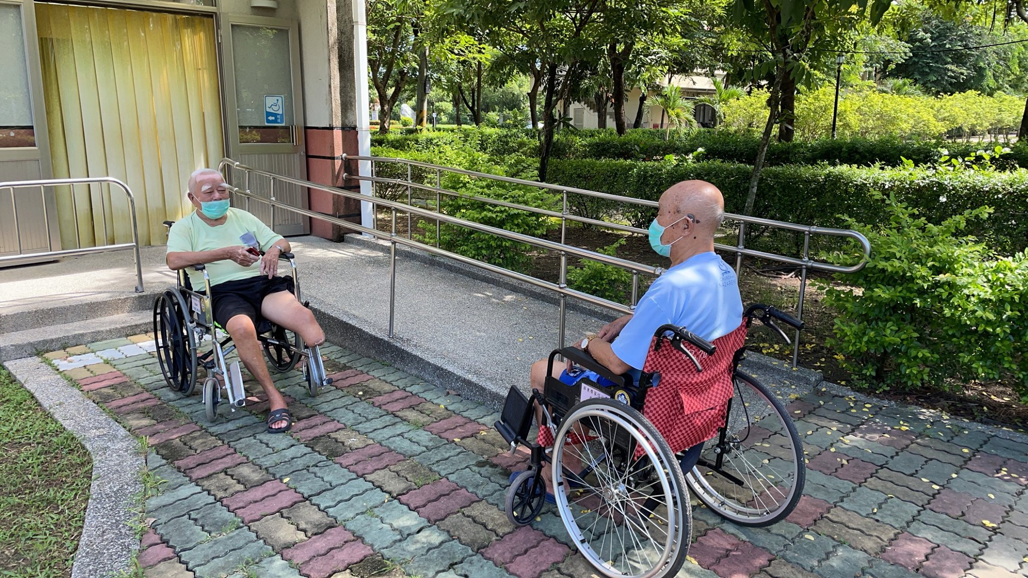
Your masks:
M 803 444 L 781 401 L 752 377 L 735 373 L 730 407 L 726 428 L 703 445 L 687 481 L 722 517 L 741 526 L 772 525 L 803 495 Z

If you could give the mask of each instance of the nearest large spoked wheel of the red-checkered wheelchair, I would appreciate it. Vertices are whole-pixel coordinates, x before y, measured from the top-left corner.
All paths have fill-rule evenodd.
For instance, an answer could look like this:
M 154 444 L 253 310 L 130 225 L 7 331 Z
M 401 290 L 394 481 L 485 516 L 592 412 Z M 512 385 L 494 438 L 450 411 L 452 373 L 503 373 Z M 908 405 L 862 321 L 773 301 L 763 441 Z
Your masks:
M 674 576 L 689 553 L 692 510 L 682 469 L 650 421 L 611 399 L 586 400 L 553 446 L 557 509 L 589 563 L 611 578 Z

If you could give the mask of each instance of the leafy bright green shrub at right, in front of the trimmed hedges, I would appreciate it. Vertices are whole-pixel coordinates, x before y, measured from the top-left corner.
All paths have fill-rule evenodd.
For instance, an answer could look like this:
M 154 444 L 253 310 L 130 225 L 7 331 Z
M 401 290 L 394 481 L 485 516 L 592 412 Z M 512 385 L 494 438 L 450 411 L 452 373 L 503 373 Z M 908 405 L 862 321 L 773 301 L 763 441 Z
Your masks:
M 853 287 L 825 290 L 843 366 L 879 391 L 1013 378 L 1028 401 L 1028 255 L 996 257 L 966 234 L 987 207 L 932 224 L 893 195 L 874 200 L 883 224 L 846 223 L 871 241 L 870 261 L 840 276 Z

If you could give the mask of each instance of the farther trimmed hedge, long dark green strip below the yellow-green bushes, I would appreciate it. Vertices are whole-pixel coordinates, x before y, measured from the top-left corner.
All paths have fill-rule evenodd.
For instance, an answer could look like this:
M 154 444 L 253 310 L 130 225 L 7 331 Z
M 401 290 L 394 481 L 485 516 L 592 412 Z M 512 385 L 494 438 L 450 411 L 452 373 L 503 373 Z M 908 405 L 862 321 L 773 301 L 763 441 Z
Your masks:
M 397 150 L 431 151 L 441 146 L 469 147 L 491 156 L 524 154 L 538 156 L 539 143 L 531 130 L 462 129 L 454 131 L 407 132 L 389 136 L 372 136 L 375 146 Z M 939 158 L 939 149 L 967 156 L 987 143 L 885 139 L 822 139 L 816 141 L 772 141 L 766 164 L 773 165 L 883 165 L 900 166 L 902 158 L 917 165 L 930 165 Z M 664 140 L 663 131 L 640 129 L 619 137 L 613 129 L 561 131 L 553 144 L 555 158 L 616 158 L 625 160 L 659 160 L 667 154 L 686 155 L 699 148 L 704 158 L 752 165 L 757 158 L 760 138 L 749 133 L 727 130 L 700 130 L 691 135 Z M 1015 144 L 1003 155 L 1001 169 L 1028 168 L 1028 143 Z

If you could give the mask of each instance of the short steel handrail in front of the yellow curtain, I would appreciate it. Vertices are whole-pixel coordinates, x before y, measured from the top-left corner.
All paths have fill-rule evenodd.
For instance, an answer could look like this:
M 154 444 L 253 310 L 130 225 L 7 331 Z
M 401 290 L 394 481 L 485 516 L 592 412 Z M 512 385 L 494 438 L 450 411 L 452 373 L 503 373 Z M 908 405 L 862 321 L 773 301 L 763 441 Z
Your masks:
M 17 206 L 14 205 L 14 189 L 25 188 L 25 187 L 39 187 L 40 197 L 43 198 L 43 219 L 49 219 L 49 215 L 46 212 L 46 200 L 45 200 L 45 187 L 48 186 L 62 186 L 62 185 L 84 185 L 84 184 L 102 184 L 107 183 L 108 185 L 116 185 L 122 191 L 124 191 L 125 196 L 128 197 L 128 215 L 132 218 L 132 243 L 115 243 L 112 245 L 101 245 L 99 247 L 81 247 L 81 241 L 76 237 L 77 245 L 79 247 L 75 249 L 66 249 L 63 251 L 53 251 L 52 242 L 47 236 L 47 248 L 49 251 L 43 253 L 22 253 L 22 239 L 21 239 L 21 225 L 17 222 Z M 37 179 L 31 181 L 8 181 L 0 183 L 0 190 L 9 189 L 11 205 L 14 207 L 14 237 L 17 238 L 19 253 L 17 255 L 7 255 L 5 257 L 0 257 L 0 263 L 9 262 L 15 260 L 24 260 L 26 258 L 38 258 L 38 257 L 71 257 L 74 255 L 86 255 L 89 253 L 103 253 L 106 251 L 120 251 L 122 249 L 133 249 L 133 257 L 136 259 L 136 292 L 143 292 L 143 264 L 140 259 L 139 254 L 139 225 L 136 221 L 136 196 L 133 194 L 132 189 L 128 185 L 121 182 L 113 177 L 86 177 L 81 179 Z M 73 203 L 73 213 L 75 216 L 75 232 L 78 234 L 78 211 L 75 209 L 75 194 L 72 192 L 72 203 Z M 103 203 L 103 202 L 101 202 Z M 107 237 L 107 213 L 103 205 L 101 205 L 101 210 L 103 211 L 102 218 L 104 219 L 104 237 Z M 47 222 L 47 227 L 49 223 Z

